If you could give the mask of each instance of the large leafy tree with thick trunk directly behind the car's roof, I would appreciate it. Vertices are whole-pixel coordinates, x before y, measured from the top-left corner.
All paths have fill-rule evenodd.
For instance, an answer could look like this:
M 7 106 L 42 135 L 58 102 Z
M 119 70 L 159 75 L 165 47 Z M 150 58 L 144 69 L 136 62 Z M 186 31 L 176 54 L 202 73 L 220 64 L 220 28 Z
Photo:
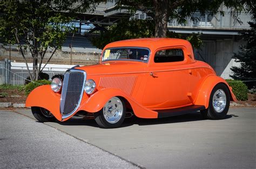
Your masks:
M 111 0 L 110 0 L 111 1 Z M 121 23 L 110 26 L 109 30 L 100 32 L 99 37 L 92 38 L 92 43 L 100 49 L 103 49 L 107 43 L 146 37 L 172 37 L 187 39 L 193 45 L 193 48 L 199 49 L 203 44 L 200 39 L 201 33 L 191 33 L 190 35 L 181 35 L 180 33 L 167 31 L 167 23 L 169 19 L 177 19 L 179 23 L 185 23 L 186 17 L 193 18 L 193 12 L 200 12 L 202 15 L 207 12 L 213 15 L 220 12 L 224 15 L 224 11 L 219 11 L 221 4 L 232 8 L 232 15 L 235 17 L 238 12 L 244 10 L 246 0 L 218 0 L 218 1 L 173 1 L 173 0 L 119 0 L 116 2 L 116 9 L 129 9 L 131 13 L 137 10 L 145 12 L 147 18 L 145 21 L 140 19 L 123 19 Z M 248 3 L 250 1 L 248 0 Z M 237 18 L 237 21 L 239 19 Z M 241 22 L 240 22 L 241 23 Z

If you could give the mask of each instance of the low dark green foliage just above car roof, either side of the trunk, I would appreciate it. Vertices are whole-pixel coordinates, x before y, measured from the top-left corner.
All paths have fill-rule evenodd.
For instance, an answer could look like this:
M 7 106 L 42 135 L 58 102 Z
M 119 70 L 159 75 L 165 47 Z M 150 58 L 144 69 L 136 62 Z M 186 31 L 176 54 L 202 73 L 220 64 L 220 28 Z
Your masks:
M 186 39 L 196 49 L 199 49 L 203 44 L 200 35 L 200 33 L 191 33 L 186 36 L 180 33 L 167 32 L 167 37 Z M 150 37 L 154 37 L 154 21 L 152 19 L 132 19 L 130 21 L 123 19 L 117 25 L 110 26 L 109 30 L 100 32 L 99 36 L 91 38 L 91 42 L 97 48 L 103 49 L 106 44 L 117 40 Z

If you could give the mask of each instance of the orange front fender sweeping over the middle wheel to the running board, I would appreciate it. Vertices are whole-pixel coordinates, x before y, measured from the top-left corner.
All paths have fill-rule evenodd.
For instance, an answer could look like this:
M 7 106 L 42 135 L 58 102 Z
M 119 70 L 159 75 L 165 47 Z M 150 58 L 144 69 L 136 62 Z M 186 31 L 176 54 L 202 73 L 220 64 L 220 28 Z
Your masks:
M 140 105 L 136 100 L 134 100 L 131 96 L 124 93 L 121 90 L 117 89 L 102 89 L 92 94 L 89 99 L 84 102 L 79 110 L 85 110 L 87 112 L 95 113 L 100 111 L 103 106 L 107 103 L 109 99 L 112 97 L 123 97 L 130 103 L 132 106 L 132 110 L 137 117 L 140 118 L 157 118 L 158 113 L 156 111 L 152 111 L 147 109 L 146 107 Z

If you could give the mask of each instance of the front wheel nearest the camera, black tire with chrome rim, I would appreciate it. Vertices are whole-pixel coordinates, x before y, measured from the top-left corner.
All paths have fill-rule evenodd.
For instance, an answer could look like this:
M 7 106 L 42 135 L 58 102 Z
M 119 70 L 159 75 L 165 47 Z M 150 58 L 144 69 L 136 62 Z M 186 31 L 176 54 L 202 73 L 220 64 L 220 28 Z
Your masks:
M 102 110 L 95 113 L 95 120 L 102 128 L 117 128 L 122 125 L 125 114 L 124 100 L 119 97 L 112 97 L 107 101 Z

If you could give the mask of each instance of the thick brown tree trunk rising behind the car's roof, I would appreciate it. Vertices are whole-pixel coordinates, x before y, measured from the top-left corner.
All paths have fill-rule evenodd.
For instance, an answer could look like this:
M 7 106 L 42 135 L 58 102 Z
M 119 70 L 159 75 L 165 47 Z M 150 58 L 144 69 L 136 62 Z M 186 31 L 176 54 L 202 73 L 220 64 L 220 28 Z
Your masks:
M 168 0 L 153 0 L 154 10 L 156 15 L 154 16 L 154 22 L 156 24 L 155 37 L 163 38 L 166 37 L 167 23 L 169 21 Z

